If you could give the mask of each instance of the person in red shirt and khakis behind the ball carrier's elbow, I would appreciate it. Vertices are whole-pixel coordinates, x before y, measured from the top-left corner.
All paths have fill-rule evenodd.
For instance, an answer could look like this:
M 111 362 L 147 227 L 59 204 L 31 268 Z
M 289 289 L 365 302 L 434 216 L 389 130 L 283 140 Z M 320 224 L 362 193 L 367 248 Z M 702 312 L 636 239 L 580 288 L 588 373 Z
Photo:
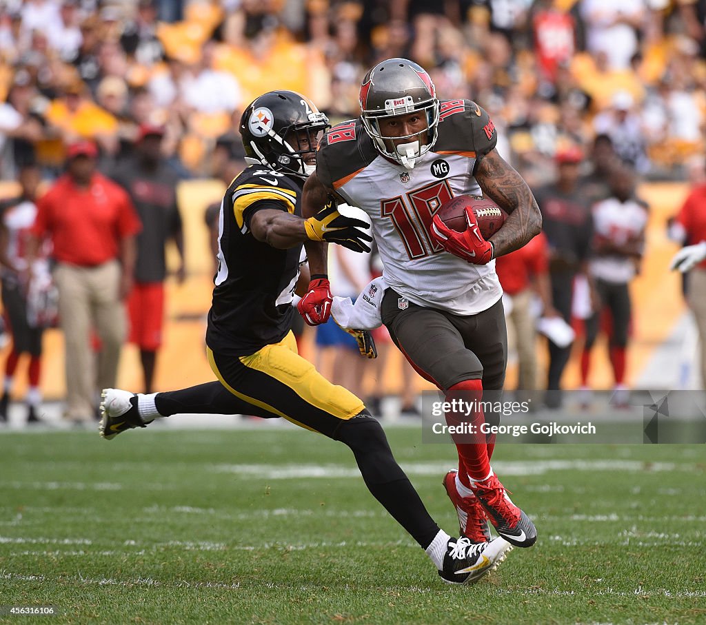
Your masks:
M 549 248 L 546 236 L 539 233 L 527 245 L 513 253 L 496 258 L 495 270 L 505 295 L 512 301 L 508 321 L 515 330 L 517 348 L 517 389 L 537 389 L 537 346 L 534 326 L 536 315 L 532 308 L 535 296 L 542 301 L 542 315 L 558 315 L 551 305 L 549 282 Z

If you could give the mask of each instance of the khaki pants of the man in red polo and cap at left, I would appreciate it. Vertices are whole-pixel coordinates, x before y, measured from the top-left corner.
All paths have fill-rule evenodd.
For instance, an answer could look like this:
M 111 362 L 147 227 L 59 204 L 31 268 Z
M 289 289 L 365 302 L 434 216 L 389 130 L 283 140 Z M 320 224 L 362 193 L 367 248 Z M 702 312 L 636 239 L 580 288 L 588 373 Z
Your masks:
M 120 350 L 126 336 L 125 306 L 119 299 L 121 268 L 112 260 L 97 267 L 56 265 L 59 315 L 66 342 L 66 417 L 90 420 L 97 391 L 114 387 Z M 95 329 L 101 348 L 91 344 Z

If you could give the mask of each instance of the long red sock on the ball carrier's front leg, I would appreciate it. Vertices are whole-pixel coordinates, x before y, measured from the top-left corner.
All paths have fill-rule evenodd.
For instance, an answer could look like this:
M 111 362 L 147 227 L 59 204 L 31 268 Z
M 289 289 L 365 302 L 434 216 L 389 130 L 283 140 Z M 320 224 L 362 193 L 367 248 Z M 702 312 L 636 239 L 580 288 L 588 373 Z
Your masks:
M 461 399 L 464 403 L 471 403 L 474 400 L 480 401 L 483 397 L 483 383 L 481 380 L 464 380 L 458 384 L 454 384 L 446 392 L 446 401 L 453 399 Z M 479 440 L 484 439 L 485 435 L 480 433 L 481 424 L 485 422 L 485 417 L 481 409 L 472 411 L 469 415 L 455 414 L 453 411 L 445 413 L 446 423 L 448 425 L 459 425 L 460 423 L 469 423 L 475 426 L 475 432 Z M 465 467 L 465 473 L 472 480 L 480 481 L 490 473 L 490 463 L 488 460 L 488 449 L 486 442 L 469 443 L 459 442 L 457 437 L 453 437 L 458 451 L 459 468 Z M 461 440 L 467 441 L 469 435 L 461 436 Z M 459 478 L 461 483 L 465 485 L 465 481 Z

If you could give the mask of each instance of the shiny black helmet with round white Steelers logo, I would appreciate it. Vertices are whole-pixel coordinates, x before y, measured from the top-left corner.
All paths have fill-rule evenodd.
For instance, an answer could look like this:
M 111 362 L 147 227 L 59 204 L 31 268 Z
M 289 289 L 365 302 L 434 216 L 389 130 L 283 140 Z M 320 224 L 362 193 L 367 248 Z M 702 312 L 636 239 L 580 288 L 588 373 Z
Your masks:
M 319 133 L 327 128 L 328 117 L 309 98 L 294 91 L 265 93 L 246 107 L 240 120 L 246 162 L 306 178 L 316 169 L 306 164 L 306 157 L 316 152 Z

